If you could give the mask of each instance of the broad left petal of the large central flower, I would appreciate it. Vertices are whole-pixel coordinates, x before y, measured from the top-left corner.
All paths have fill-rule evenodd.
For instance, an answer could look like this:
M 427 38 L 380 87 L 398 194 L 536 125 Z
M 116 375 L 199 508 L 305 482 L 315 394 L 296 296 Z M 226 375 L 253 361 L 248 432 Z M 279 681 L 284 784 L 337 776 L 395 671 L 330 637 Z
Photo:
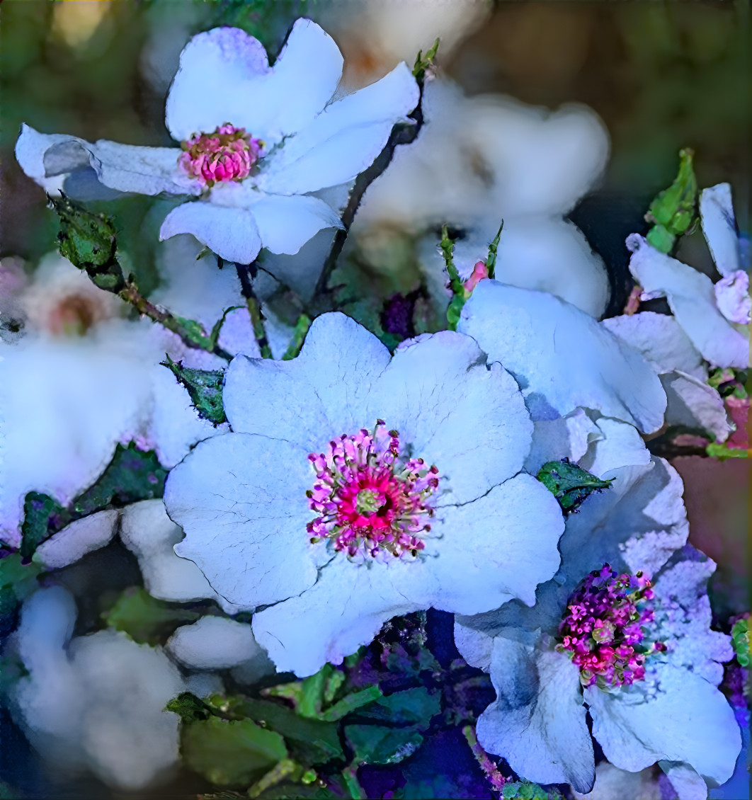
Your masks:
M 306 536 L 312 477 L 306 451 L 282 439 L 199 443 L 165 486 L 167 513 L 186 534 L 175 552 L 243 608 L 299 594 L 316 580 Z

